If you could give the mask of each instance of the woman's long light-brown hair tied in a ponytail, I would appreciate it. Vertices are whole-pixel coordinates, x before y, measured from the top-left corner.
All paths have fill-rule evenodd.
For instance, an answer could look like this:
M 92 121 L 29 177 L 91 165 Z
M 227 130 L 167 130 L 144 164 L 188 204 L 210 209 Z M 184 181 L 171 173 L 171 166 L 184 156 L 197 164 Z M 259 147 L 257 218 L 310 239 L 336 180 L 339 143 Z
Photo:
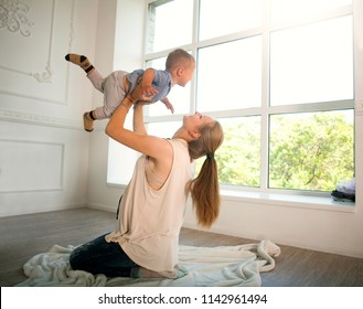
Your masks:
M 218 121 L 205 125 L 200 129 L 201 137 L 189 142 L 189 154 L 192 159 L 206 156 L 196 178 L 188 183 L 197 223 L 211 227 L 220 215 L 221 196 L 215 150 L 223 142 L 223 129 Z

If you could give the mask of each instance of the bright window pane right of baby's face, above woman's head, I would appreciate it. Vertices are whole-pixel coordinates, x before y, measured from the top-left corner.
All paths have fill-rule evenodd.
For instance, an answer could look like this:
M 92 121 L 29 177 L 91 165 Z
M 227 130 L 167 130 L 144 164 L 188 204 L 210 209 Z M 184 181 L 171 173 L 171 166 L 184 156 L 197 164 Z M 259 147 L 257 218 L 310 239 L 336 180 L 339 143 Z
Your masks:
M 199 50 L 199 111 L 256 107 L 260 103 L 260 36 Z

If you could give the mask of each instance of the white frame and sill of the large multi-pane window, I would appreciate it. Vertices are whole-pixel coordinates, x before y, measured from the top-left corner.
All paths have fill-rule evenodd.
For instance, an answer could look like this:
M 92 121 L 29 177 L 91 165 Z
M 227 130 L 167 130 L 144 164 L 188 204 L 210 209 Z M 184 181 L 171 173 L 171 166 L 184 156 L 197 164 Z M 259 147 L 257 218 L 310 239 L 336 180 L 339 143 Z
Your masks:
M 148 9 L 149 4 L 157 2 L 158 0 L 147 0 L 146 1 L 146 35 L 145 35 L 145 54 L 142 62 L 146 64 L 148 61 L 151 61 L 153 58 L 158 57 L 164 57 L 174 50 L 174 47 L 170 50 L 164 50 L 160 52 L 147 52 L 147 40 L 148 40 L 148 31 L 149 31 L 149 24 L 148 24 Z M 188 51 L 191 51 L 191 53 L 194 55 L 194 57 L 197 60 L 197 50 L 201 47 L 205 47 L 213 44 L 220 44 L 232 40 L 248 38 L 252 35 L 263 35 L 263 94 L 261 94 L 261 107 L 258 108 L 249 108 L 249 109 L 237 109 L 237 110 L 225 110 L 225 111 L 211 111 L 207 113 L 209 115 L 213 117 L 236 117 L 236 116 L 250 116 L 250 115 L 260 115 L 261 116 L 261 166 L 260 166 L 260 187 L 259 188 L 236 188 L 236 187 L 227 187 L 222 185 L 221 193 L 223 195 L 223 199 L 225 200 L 235 200 L 238 201 L 243 200 L 255 200 L 259 199 L 259 201 L 265 200 L 268 203 L 278 203 L 279 205 L 307 205 L 310 204 L 313 209 L 322 207 L 325 209 L 327 206 L 333 206 L 333 210 L 343 210 L 343 211 L 351 211 L 354 207 L 337 207 L 337 206 L 345 206 L 345 205 L 352 205 L 351 203 L 340 204 L 332 202 L 332 200 L 328 199 L 328 194 L 322 193 L 316 193 L 313 194 L 311 191 L 307 192 L 299 192 L 297 194 L 293 191 L 285 191 L 285 190 L 274 190 L 267 188 L 268 185 L 268 116 L 270 114 L 287 114 L 287 113 L 298 113 L 298 111 L 324 111 L 324 110 L 333 110 L 333 109 L 344 109 L 344 108 L 354 108 L 355 109 L 355 121 L 357 121 L 357 115 L 362 114 L 363 109 L 363 76 L 359 72 L 357 66 L 362 66 L 363 63 L 363 53 L 360 51 L 360 46 L 363 45 L 363 4 L 359 0 L 353 0 L 353 6 L 346 6 L 344 8 L 341 8 L 339 10 L 334 11 L 334 14 L 337 17 L 343 17 L 348 14 L 353 14 L 353 22 L 354 22 L 354 90 L 355 95 L 353 99 L 350 100 L 339 100 L 339 102 L 331 102 L 329 105 L 329 108 L 327 104 L 324 103 L 317 103 L 317 104 L 300 104 L 300 105 L 291 105 L 291 106 L 268 106 L 269 103 L 269 74 L 266 74 L 266 72 L 269 72 L 269 32 L 276 31 L 280 29 L 285 29 L 288 26 L 297 26 L 297 25 L 303 25 L 308 22 L 313 21 L 321 21 L 323 19 L 331 18 L 330 14 L 317 15 L 311 19 L 301 19 L 299 21 L 293 22 L 286 22 L 276 24 L 274 26 L 269 26 L 266 22 L 266 19 L 264 19 L 264 24 L 260 28 L 252 29 L 248 31 L 242 31 L 238 33 L 233 33 L 228 35 L 223 35 L 220 38 L 214 38 L 210 40 L 204 41 L 197 41 L 197 19 L 199 19 L 199 0 L 193 0 L 194 6 L 194 17 L 193 17 L 193 41 L 191 44 L 178 46 Z M 267 14 L 269 6 L 269 0 L 264 0 L 264 8 L 265 8 L 265 15 Z M 195 90 L 196 90 L 196 78 L 194 77 L 191 81 L 191 105 L 190 105 L 190 113 L 195 111 Z M 313 108 L 311 108 L 313 107 Z M 168 116 L 146 116 L 145 121 L 146 124 L 151 122 L 160 122 L 160 121 L 174 121 L 174 120 L 182 120 L 182 115 L 168 115 Z M 360 149 L 361 146 L 356 146 L 359 140 L 355 138 L 355 148 Z M 357 162 L 357 159 L 355 157 L 355 170 L 357 171 L 359 167 L 362 163 Z

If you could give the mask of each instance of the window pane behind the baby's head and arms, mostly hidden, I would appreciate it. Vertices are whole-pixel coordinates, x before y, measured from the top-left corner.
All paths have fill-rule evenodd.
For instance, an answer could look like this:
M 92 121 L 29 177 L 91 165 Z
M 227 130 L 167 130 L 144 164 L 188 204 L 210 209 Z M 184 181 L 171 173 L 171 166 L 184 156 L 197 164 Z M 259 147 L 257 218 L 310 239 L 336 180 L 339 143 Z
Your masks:
M 156 58 L 147 62 L 147 67 L 153 67 L 157 70 L 166 68 L 167 57 Z M 174 114 L 188 114 L 190 111 L 190 98 L 191 98 L 191 83 L 189 82 L 185 87 L 174 85 L 168 98 L 170 103 L 174 106 Z M 166 116 L 171 115 L 170 109 L 167 109 L 162 102 L 157 102 L 148 106 L 147 115 L 149 116 Z

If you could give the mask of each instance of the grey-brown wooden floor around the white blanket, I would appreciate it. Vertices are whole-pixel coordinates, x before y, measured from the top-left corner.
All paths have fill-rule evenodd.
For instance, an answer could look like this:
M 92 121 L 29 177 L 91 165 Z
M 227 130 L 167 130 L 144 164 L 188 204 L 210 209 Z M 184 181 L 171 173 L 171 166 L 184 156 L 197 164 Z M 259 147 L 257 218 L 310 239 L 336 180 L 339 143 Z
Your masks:
M 78 245 L 114 230 L 115 215 L 77 209 L 0 219 L 0 286 L 25 279 L 22 266 L 53 245 Z M 182 228 L 180 244 L 228 246 L 255 241 Z M 264 287 L 363 287 L 363 259 L 280 246 L 276 267 L 263 273 Z

